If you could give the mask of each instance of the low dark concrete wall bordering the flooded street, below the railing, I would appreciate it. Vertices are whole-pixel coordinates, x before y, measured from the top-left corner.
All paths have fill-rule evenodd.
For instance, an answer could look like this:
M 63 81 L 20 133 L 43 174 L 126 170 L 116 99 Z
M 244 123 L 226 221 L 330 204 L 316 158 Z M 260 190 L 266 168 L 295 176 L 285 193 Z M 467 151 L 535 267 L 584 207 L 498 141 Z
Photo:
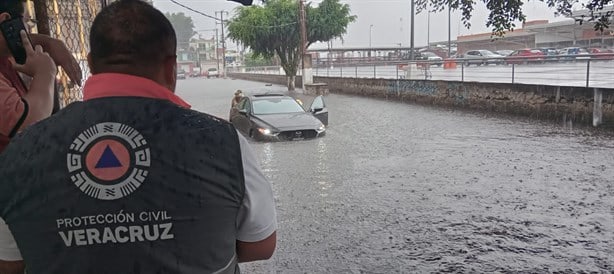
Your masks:
M 285 84 L 284 76 L 233 74 L 231 77 Z M 300 77 L 297 77 L 300 81 Z M 386 98 L 420 104 L 457 107 L 593 125 L 592 88 L 453 81 L 314 77 L 332 93 Z M 299 87 L 299 84 L 296 85 Z M 614 89 L 600 89 L 602 121 L 614 125 Z

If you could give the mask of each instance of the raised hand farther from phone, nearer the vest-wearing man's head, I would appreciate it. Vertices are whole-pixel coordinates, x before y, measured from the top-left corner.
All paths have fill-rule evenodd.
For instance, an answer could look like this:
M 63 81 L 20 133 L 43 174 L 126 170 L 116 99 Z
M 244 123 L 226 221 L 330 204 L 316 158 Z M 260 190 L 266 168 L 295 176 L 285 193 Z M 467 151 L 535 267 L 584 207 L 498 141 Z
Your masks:
M 53 61 L 64 69 L 64 72 L 66 72 L 66 75 L 68 75 L 72 82 L 81 86 L 83 72 L 79 62 L 77 62 L 64 42 L 43 34 L 31 34 L 30 38 L 32 43 L 43 46 L 43 49 L 49 53 Z

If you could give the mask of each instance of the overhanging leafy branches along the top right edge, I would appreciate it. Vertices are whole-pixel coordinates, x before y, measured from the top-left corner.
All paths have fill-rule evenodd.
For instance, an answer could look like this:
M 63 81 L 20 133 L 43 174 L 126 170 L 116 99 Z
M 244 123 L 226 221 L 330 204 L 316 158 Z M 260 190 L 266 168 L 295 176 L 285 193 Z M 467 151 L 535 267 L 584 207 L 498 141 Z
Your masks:
M 471 27 L 470 19 L 477 4 L 474 0 L 415 0 L 418 11 L 429 9 L 439 12 L 447 10 L 460 10 L 462 21 L 466 27 Z M 526 15 L 523 13 L 524 0 L 481 0 L 490 11 L 486 26 L 490 27 L 493 34 L 503 36 L 506 31 L 513 30 L 516 23 L 525 22 Z M 555 15 L 571 16 L 573 7 L 582 7 L 588 10 L 585 16 L 575 18 L 580 24 L 592 23 L 595 30 L 603 31 L 609 28 L 610 19 L 614 15 L 612 11 L 603 11 L 604 7 L 614 3 L 614 0 L 537 0 L 546 3 L 553 8 Z

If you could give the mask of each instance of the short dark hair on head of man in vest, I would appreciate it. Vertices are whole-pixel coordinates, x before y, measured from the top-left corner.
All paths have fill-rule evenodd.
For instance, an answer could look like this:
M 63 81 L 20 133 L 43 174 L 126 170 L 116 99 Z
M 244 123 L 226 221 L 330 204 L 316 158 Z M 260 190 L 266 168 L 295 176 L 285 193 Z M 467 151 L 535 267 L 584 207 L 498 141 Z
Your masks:
M 170 21 L 141 0 L 119 0 L 103 8 L 90 32 L 93 73 L 150 76 L 169 57 L 177 37 Z

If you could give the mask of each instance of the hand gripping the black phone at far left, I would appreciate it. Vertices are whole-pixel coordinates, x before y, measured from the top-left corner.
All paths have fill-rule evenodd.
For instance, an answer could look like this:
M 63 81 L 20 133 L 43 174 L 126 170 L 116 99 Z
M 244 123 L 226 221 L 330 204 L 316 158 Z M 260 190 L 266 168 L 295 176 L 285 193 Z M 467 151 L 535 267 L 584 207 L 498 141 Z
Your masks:
M 19 34 L 21 35 L 21 41 L 23 41 L 23 47 L 26 50 L 26 63 L 23 65 L 14 63 L 13 68 L 30 77 L 36 77 L 37 75 L 43 74 L 55 77 L 58 69 L 51 56 L 44 52 L 43 47 L 40 45 L 36 45 L 36 47 L 32 49 L 32 44 L 25 31 L 22 30 Z

